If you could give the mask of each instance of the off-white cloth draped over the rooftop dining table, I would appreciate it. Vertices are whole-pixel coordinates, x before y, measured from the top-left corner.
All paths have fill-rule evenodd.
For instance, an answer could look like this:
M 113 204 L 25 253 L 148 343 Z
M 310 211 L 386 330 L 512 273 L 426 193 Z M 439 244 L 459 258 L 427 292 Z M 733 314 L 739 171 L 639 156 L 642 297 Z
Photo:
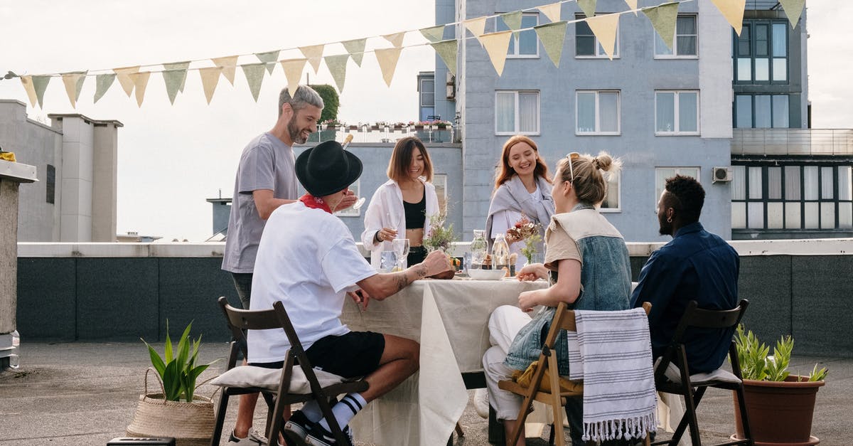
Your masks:
M 519 293 L 544 281 L 419 280 L 367 311 L 351 300 L 342 320 L 351 330 L 408 337 L 421 343 L 421 370 L 368 404 L 351 427 L 359 442 L 384 445 L 447 443 L 467 405 L 461 373 L 483 370 L 489 315 L 517 305 Z

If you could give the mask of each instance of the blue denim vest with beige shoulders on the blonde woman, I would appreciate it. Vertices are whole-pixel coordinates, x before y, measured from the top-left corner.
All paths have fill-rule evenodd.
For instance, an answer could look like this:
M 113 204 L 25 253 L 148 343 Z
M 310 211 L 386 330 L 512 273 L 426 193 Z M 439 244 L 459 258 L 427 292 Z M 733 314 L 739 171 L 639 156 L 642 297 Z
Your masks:
M 577 244 L 581 255 L 581 293 L 569 305 L 583 310 L 628 309 L 631 291 L 631 267 L 628 247 L 624 238 L 609 221 L 592 206 L 578 204 L 571 212 L 555 214 L 545 233 L 548 238 L 555 225 L 561 226 Z M 547 248 L 546 248 L 547 249 Z M 516 370 L 524 370 L 532 361 L 539 359 L 542 346 L 556 308 L 539 310 L 530 323 L 515 335 L 503 364 Z M 560 375 L 569 374 L 568 345 L 566 332 L 560 332 L 554 343 Z

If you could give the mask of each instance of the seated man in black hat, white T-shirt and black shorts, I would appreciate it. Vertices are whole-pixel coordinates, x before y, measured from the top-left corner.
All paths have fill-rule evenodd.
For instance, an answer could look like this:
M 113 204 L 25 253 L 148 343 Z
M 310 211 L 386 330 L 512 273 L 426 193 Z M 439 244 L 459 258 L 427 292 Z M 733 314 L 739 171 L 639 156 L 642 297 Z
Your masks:
M 364 376 L 368 390 L 344 396 L 332 411 L 346 426 L 368 402 L 384 395 L 418 369 L 420 345 L 375 332 L 351 332 L 340 322 L 347 294 L 367 305 L 385 299 L 416 279 L 450 269 L 441 252 L 399 273 L 376 273 L 344 222 L 334 216 L 348 197 L 347 187 L 362 173 L 362 161 L 335 141 L 305 150 L 296 176 L 308 191 L 298 202 L 270 215 L 255 261 L 252 309 L 281 301 L 315 367 L 345 378 Z M 281 331 L 251 331 L 249 362 L 282 367 L 290 345 Z M 297 444 L 336 444 L 316 402 L 293 413 L 285 432 Z M 345 432 L 349 428 L 345 427 Z

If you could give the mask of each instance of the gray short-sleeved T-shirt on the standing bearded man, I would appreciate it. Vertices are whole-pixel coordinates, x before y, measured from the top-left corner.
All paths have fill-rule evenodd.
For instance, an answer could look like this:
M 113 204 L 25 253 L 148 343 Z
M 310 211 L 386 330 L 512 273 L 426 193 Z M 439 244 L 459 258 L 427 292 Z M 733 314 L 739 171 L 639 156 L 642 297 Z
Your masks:
M 273 197 L 295 200 L 297 182 L 293 166 L 293 149 L 269 132 L 252 139 L 243 150 L 234 183 L 223 270 L 252 273 L 266 224 L 258 216 L 252 191 L 269 189 Z

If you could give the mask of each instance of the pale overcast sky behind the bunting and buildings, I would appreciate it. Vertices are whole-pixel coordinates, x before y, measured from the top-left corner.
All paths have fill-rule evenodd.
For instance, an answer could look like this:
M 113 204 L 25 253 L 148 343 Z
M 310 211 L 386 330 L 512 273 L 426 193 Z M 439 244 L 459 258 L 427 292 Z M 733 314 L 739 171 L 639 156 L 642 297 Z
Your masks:
M 433 5 L 424 0 L 3 2 L 0 73 L 59 73 L 180 62 L 378 36 L 432 26 Z M 853 17 L 853 2 L 808 0 L 807 5 L 813 126 L 851 128 L 853 32 L 845 22 Z M 421 42 L 417 33 L 405 40 L 405 44 Z M 388 46 L 378 39 L 368 40 L 368 50 L 374 45 Z M 331 45 L 325 54 L 342 52 L 340 45 Z M 282 58 L 291 56 L 301 54 L 281 54 Z M 257 61 L 253 56 L 241 57 L 238 63 L 247 62 Z M 405 49 L 389 88 L 373 56 L 365 56 L 360 68 L 350 62 L 339 119 L 416 120 L 416 75 L 433 68 L 432 50 Z M 310 68 L 305 71 L 311 73 L 312 83 L 333 83 L 325 64 L 316 76 Z M 125 96 L 118 82 L 93 104 L 95 83 L 91 78 L 76 110 L 68 103 L 60 79 L 51 80 L 44 110 L 29 107 L 18 79 L 0 82 L 0 97 L 27 103 L 32 119 L 46 121 L 48 113 L 80 113 L 124 123 L 119 130 L 118 232 L 200 241 L 212 232 L 212 205 L 205 199 L 218 197 L 220 189 L 223 197 L 232 195 L 241 150 L 273 125 L 277 94 L 285 84 L 281 67 L 276 67 L 271 77 L 264 78 L 255 103 L 238 68 L 234 86 L 219 80 L 210 105 L 196 71 L 189 72 L 185 92 L 174 105 L 166 97 L 160 74 L 151 76 L 142 108 Z

